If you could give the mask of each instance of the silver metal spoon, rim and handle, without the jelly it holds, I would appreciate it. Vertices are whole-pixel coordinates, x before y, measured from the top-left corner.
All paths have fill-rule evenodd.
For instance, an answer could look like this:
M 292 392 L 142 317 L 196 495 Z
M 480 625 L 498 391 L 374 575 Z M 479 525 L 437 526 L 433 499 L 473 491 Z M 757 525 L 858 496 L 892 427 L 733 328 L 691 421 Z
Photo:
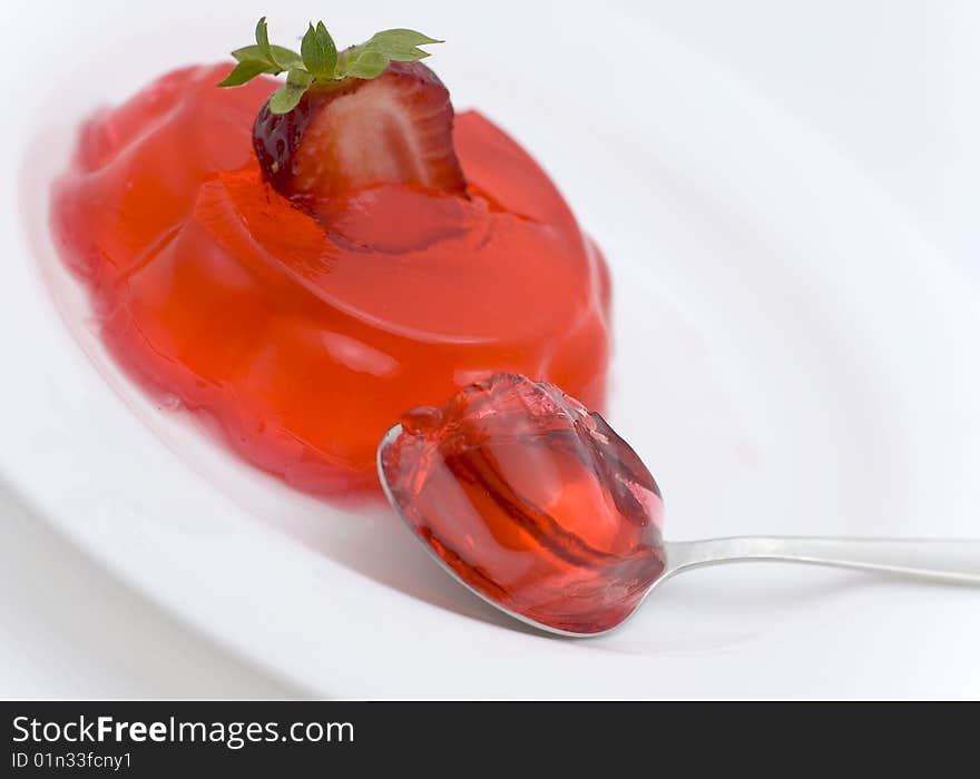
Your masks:
M 383 455 L 401 433 L 395 425 L 381 440 L 378 447 L 378 473 L 384 493 L 399 516 L 412 530 L 413 535 L 429 551 L 439 565 L 470 592 L 497 607 L 506 614 L 539 630 L 558 635 L 591 638 L 609 632 L 570 632 L 520 614 L 483 592 L 470 586 L 453 569 L 445 564 L 429 542 L 418 533 L 414 524 L 399 505 L 385 479 Z M 665 565 L 659 578 L 610 630 L 615 630 L 631 617 L 644 600 L 674 574 L 705 565 L 737 562 L 796 562 L 812 565 L 857 569 L 880 573 L 912 576 L 948 583 L 980 585 L 980 540 L 899 540 L 899 539 L 835 539 L 810 536 L 739 536 L 705 541 L 670 541 L 663 548 Z

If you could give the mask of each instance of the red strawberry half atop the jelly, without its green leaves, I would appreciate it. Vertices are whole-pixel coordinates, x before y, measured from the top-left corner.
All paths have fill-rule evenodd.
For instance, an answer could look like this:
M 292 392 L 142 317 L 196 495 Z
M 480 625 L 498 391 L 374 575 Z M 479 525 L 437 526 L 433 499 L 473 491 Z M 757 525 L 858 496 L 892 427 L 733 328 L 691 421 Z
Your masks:
M 330 198 L 374 184 L 465 191 L 449 90 L 421 62 L 373 79 L 315 83 L 286 114 L 263 106 L 252 130 L 267 180 L 287 197 Z

